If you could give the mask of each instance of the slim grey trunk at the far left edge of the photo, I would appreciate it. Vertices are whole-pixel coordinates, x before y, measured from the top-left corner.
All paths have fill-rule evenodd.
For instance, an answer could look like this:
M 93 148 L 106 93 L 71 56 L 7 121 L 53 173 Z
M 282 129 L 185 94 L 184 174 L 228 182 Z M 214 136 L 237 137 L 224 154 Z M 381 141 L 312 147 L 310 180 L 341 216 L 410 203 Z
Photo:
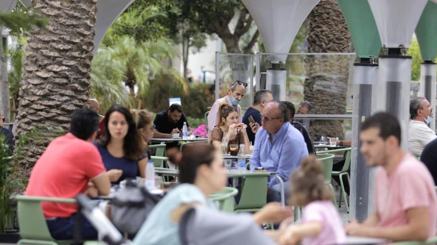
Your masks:
M 0 26 L 0 33 L 3 27 Z M 9 81 L 7 80 L 7 62 L 3 50 L 3 38 L 0 37 L 0 113 L 5 122 L 10 121 Z

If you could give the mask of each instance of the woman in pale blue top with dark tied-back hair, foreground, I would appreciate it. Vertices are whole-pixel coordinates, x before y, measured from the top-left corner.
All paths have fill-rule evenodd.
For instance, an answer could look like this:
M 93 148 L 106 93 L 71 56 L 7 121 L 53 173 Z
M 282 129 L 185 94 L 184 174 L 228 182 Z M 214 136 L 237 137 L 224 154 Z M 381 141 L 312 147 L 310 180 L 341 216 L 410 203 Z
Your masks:
M 179 181 L 153 207 L 135 236 L 135 245 L 179 245 L 178 223 L 182 214 L 194 205 L 217 209 L 208 196 L 223 189 L 227 183 L 223 158 L 210 144 L 196 143 L 183 148 L 182 156 L 173 161 L 179 166 Z M 266 183 L 267 185 L 267 183 Z M 253 215 L 254 222 L 277 222 L 291 215 L 291 208 L 269 203 Z M 219 231 L 218 231 L 219 232 Z

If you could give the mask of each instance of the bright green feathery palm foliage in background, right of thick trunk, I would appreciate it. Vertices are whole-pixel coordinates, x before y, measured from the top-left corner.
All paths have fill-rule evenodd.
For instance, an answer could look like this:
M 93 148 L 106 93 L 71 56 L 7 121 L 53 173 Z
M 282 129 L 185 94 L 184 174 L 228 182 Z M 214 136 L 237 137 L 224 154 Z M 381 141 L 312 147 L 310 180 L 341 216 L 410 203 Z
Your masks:
M 131 37 L 117 39 L 113 46 L 99 49 L 93 60 L 91 94 L 103 101 L 103 108 L 115 101 L 142 107 L 150 79 L 161 74 L 167 74 L 186 92 L 185 80 L 168 63 L 176 54 L 166 40 L 138 43 Z M 129 97 L 124 86 L 128 88 Z

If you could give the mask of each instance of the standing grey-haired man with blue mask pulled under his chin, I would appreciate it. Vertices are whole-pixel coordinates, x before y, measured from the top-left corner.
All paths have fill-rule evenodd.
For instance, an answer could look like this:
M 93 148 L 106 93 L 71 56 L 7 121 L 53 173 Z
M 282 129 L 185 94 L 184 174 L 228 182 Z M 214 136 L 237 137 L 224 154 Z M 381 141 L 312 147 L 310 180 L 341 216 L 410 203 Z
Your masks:
M 211 136 L 212 130 L 215 126 L 218 125 L 218 109 L 223 104 L 233 105 L 237 108 L 238 111 L 238 120 L 241 122 L 241 106 L 240 101 L 243 99 L 243 96 L 246 94 L 247 83 L 239 80 L 234 81 L 227 88 L 227 95 L 223 98 L 219 98 L 214 102 L 211 107 L 210 113 L 208 114 L 208 133 Z

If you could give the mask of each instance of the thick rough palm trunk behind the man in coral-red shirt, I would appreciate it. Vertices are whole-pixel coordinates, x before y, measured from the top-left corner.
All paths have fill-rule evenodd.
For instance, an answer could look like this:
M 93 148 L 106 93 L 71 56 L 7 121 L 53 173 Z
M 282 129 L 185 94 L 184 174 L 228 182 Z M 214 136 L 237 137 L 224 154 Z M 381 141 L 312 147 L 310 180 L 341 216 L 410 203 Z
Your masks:
M 18 135 L 37 125 L 67 129 L 73 111 L 87 101 L 90 87 L 96 0 L 32 3 L 50 21 L 45 30 L 33 30 L 27 40 L 18 99 Z M 28 178 L 33 164 L 54 137 L 51 131 L 38 131 L 39 140 L 31 139 L 22 150 L 23 159 L 14 165 L 19 177 Z

